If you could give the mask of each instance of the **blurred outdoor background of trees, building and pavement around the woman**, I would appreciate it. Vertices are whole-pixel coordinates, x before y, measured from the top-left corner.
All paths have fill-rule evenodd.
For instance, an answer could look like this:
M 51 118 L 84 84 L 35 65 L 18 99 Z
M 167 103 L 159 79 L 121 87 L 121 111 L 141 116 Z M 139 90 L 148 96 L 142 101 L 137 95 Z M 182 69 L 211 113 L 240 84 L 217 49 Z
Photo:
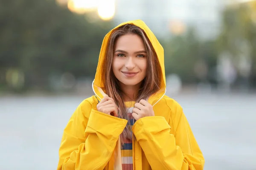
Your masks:
M 0 0 L 0 170 L 54 170 L 102 40 L 143 20 L 205 170 L 256 170 L 256 0 Z

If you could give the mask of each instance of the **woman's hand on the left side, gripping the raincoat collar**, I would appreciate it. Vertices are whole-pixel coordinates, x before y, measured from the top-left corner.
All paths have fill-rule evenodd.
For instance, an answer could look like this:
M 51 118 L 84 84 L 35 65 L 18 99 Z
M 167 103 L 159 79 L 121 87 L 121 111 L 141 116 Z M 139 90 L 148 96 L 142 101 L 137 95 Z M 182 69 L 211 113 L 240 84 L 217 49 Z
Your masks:
M 112 116 L 118 116 L 116 104 L 109 96 L 103 97 L 103 99 L 97 105 L 97 110 Z

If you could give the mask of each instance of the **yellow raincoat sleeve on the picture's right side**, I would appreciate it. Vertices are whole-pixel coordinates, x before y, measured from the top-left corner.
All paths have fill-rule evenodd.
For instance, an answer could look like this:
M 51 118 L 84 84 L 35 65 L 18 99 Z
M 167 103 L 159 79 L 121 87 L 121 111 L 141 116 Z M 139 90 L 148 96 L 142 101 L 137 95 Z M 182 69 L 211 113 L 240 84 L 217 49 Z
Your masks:
M 162 116 L 141 118 L 133 127 L 152 170 L 203 170 L 203 154 L 182 108 L 177 104 L 170 111 L 175 135 Z

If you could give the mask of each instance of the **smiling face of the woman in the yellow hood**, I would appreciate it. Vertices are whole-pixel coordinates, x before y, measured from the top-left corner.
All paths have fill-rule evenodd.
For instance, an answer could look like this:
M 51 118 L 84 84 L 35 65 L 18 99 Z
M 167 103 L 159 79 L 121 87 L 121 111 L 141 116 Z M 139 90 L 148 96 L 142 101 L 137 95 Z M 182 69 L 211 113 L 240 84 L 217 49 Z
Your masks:
M 135 86 L 145 78 L 147 56 L 143 40 L 137 34 L 118 38 L 114 48 L 113 73 L 122 85 Z

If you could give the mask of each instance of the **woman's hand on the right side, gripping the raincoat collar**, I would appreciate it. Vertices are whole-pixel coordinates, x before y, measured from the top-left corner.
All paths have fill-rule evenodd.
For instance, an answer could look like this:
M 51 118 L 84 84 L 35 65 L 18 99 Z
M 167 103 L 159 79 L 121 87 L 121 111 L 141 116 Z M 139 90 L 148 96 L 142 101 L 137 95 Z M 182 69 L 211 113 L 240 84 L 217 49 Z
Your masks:
M 132 111 L 132 116 L 135 120 L 139 120 L 145 116 L 154 116 L 152 105 L 143 99 L 141 99 L 139 103 L 135 103 Z

